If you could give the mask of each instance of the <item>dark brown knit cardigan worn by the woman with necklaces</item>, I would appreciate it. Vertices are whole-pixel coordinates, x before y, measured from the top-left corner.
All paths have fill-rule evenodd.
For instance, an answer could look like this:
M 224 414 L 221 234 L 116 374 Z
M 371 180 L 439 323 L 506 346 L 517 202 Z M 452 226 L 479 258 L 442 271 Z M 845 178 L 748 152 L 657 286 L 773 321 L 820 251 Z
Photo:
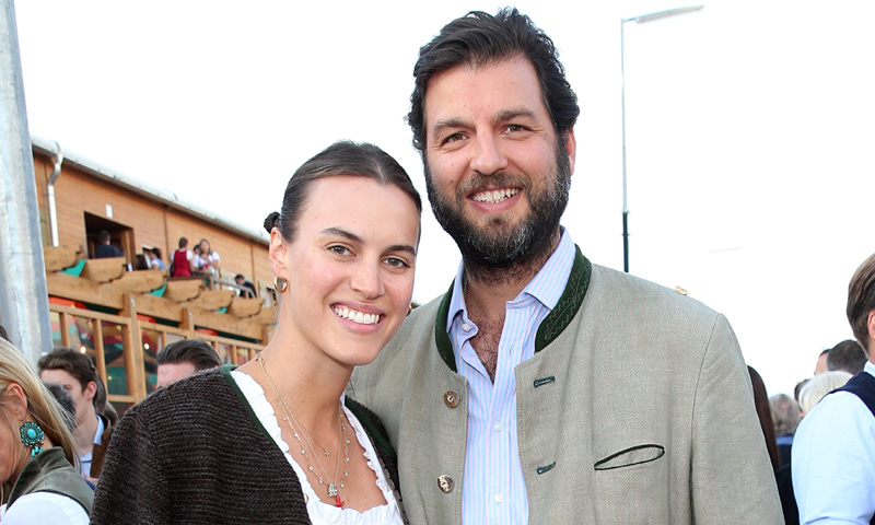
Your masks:
M 232 366 L 152 394 L 113 433 L 91 523 L 308 524 L 294 469 L 255 417 Z M 401 506 L 395 451 L 376 416 L 347 399 Z

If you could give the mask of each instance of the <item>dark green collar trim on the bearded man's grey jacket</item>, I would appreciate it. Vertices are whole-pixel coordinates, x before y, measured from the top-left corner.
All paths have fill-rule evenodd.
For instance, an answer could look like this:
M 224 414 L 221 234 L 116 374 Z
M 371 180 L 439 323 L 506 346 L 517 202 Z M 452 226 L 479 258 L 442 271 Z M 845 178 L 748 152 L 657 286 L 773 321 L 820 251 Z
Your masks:
M 586 290 L 590 288 L 590 278 L 593 275 L 593 265 L 590 259 L 583 256 L 581 248 L 574 245 L 576 255 L 574 256 L 574 264 L 571 266 L 571 273 L 565 284 L 565 290 L 556 307 L 547 314 L 535 336 L 535 352 L 541 351 L 547 345 L 551 343 L 559 337 L 562 331 L 571 324 L 571 319 L 578 315 L 581 310 L 583 299 L 586 296 Z M 453 355 L 453 343 L 450 342 L 450 336 L 446 332 L 446 317 L 450 314 L 450 301 L 453 298 L 453 287 L 455 280 L 450 284 L 450 290 L 441 300 L 441 305 L 438 306 L 438 318 L 434 323 L 434 342 L 438 346 L 438 353 L 444 360 L 447 368 L 456 372 L 456 358 Z

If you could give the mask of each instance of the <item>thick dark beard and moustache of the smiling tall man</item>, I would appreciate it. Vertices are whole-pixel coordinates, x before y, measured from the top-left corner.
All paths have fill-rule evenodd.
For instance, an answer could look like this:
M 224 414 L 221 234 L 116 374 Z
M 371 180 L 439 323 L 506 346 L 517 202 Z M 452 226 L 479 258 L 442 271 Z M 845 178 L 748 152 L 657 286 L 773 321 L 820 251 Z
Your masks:
M 523 269 L 532 261 L 542 264 L 549 257 L 552 252 L 551 241 L 565 211 L 571 188 L 571 168 L 561 141 L 557 140 L 556 162 L 551 173 L 544 174 L 549 178 L 537 191 L 532 189 L 528 179 L 520 175 L 504 172 L 492 175 L 475 173 L 459 185 L 455 196 L 447 197 L 438 192 L 428 162 L 424 164 L 425 187 L 432 211 L 444 231 L 458 245 L 467 271 L 480 273 L 480 277 L 498 277 L 492 270 Z M 529 202 L 526 215 L 516 223 L 510 222 L 508 217 L 497 215 L 489 219 L 485 226 L 466 220 L 463 209 L 466 196 L 485 190 L 490 183 L 499 188 L 522 187 L 523 195 Z

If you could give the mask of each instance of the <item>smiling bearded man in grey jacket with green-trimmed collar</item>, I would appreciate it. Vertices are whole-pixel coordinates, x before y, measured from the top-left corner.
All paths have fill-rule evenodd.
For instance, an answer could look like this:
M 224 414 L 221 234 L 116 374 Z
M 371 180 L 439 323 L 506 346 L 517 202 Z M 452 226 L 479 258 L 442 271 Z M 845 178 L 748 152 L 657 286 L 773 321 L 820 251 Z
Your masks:
M 592 265 L 560 225 L 580 109 L 552 42 L 472 12 L 413 74 L 463 260 L 348 389 L 386 424 L 410 523 L 783 523 L 726 319 Z

